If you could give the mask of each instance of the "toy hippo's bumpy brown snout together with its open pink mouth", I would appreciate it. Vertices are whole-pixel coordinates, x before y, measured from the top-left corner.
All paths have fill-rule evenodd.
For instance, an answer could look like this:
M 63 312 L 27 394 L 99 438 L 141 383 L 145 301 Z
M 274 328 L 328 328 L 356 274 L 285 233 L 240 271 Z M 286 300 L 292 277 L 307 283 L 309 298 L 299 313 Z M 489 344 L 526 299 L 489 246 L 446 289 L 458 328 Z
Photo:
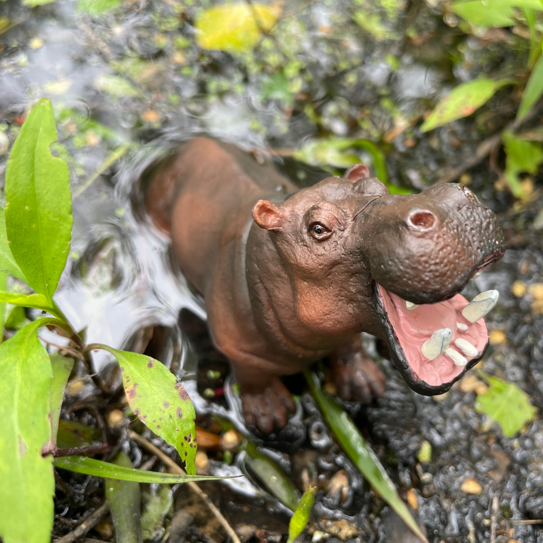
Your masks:
M 497 293 L 469 304 L 459 292 L 503 256 L 496 216 L 468 188 L 449 184 L 384 195 L 359 220 L 372 302 L 393 361 L 415 392 L 443 394 L 488 346 L 483 316 Z

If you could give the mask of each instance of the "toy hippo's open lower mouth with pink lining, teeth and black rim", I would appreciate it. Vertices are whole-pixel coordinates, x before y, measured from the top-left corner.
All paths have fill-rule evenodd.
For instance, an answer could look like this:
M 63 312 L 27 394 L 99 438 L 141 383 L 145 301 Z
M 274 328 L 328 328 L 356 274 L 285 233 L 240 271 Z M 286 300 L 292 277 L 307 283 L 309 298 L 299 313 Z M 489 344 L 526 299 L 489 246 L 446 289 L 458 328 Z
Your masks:
M 479 294 L 471 302 L 456 294 L 435 304 L 416 305 L 375 281 L 372 288 L 393 362 L 415 392 L 445 393 L 487 350 L 483 316 L 494 307 L 497 291 Z

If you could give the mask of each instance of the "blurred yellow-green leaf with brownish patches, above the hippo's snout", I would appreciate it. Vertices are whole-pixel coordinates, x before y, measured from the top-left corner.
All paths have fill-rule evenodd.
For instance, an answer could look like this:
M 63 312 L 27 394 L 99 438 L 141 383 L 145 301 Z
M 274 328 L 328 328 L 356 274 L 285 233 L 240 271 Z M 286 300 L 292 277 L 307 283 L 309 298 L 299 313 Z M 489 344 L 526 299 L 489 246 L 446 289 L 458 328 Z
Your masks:
M 427 132 L 471 115 L 476 109 L 488 102 L 500 87 L 510 83 L 512 83 L 510 79 L 494 81 L 481 77 L 454 87 L 449 96 L 440 100 L 439 104 L 435 106 L 430 116 L 422 123 L 420 131 Z

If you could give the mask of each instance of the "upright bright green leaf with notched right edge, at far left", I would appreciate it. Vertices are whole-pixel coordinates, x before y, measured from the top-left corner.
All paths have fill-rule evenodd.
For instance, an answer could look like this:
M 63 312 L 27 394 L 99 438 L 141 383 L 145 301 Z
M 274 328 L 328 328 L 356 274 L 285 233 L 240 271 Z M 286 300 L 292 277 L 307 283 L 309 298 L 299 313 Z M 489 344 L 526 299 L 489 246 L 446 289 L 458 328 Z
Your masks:
M 51 102 L 42 98 L 21 127 L 5 175 L 11 254 L 28 285 L 50 306 L 70 250 L 73 222 L 68 167 L 49 149 L 56 139 Z

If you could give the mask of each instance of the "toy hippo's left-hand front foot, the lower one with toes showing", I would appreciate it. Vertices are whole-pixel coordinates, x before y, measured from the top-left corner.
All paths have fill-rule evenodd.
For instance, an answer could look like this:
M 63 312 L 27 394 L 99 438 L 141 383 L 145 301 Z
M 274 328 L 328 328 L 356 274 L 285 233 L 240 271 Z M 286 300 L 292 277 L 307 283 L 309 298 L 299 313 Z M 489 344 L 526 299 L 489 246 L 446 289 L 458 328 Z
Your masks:
M 247 425 L 266 435 L 284 428 L 289 413 L 296 411 L 291 393 L 277 377 L 272 377 L 264 390 L 243 390 L 242 387 L 241 400 Z

